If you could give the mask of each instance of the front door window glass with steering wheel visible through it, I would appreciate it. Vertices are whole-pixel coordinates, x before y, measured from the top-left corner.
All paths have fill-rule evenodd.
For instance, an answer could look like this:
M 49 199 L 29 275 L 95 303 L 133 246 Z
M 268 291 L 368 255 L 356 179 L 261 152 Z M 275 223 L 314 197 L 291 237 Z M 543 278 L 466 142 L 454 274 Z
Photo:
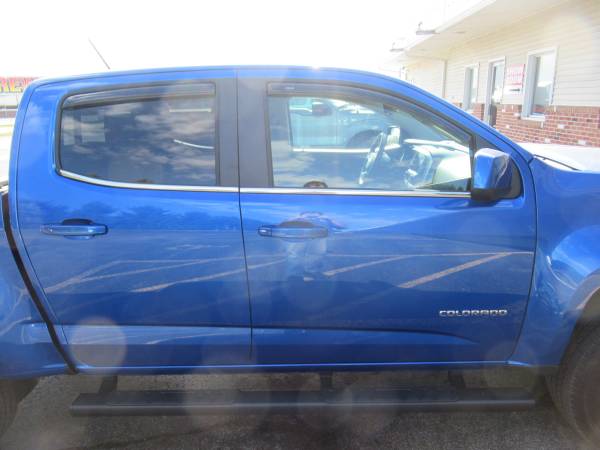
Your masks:
M 406 103 L 269 98 L 276 187 L 464 192 L 469 135 Z

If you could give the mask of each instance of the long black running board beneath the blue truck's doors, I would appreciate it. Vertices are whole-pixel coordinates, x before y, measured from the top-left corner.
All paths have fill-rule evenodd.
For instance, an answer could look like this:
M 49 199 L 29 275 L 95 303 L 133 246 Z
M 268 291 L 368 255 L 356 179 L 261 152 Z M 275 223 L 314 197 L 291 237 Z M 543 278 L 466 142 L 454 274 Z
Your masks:
M 534 407 L 524 389 L 409 388 L 320 391 L 119 391 L 81 394 L 76 416 L 154 416 L 304 411 L 516 410 Z

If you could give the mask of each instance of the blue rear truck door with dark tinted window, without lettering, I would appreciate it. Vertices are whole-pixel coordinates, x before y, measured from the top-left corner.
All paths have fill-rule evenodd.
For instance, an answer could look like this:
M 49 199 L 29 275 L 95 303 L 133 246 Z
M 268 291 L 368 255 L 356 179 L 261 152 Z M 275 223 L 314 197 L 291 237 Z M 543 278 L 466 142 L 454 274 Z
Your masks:
M 247 360 L 235 95 L 229 70 L 33 93 L 11 201 L 27 268 L 80 367 Z

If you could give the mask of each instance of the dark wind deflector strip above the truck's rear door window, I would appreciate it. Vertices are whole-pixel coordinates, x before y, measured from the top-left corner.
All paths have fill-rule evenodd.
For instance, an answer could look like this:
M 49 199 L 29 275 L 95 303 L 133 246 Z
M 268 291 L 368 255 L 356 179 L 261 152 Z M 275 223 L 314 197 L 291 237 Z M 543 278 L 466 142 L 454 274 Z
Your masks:
M 143 86 L 126 89 L 76 94 L 67 97 L 63 108 L 119 103 L 121 101 L 149 100 L 163 97 L 203 97 L 214 96 L 215 86 L 212 83 L 182 83 L 159 86 Z

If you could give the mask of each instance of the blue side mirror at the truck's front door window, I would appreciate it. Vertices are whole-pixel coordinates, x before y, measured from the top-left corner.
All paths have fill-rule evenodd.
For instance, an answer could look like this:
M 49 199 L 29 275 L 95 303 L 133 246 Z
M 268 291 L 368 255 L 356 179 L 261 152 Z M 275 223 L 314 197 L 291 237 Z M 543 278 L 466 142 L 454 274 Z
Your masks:
M 475 153 L 471 198 L 493 202 L 507 196 L 512 187 L 513 163 L 506 153 L 482 148 Z

